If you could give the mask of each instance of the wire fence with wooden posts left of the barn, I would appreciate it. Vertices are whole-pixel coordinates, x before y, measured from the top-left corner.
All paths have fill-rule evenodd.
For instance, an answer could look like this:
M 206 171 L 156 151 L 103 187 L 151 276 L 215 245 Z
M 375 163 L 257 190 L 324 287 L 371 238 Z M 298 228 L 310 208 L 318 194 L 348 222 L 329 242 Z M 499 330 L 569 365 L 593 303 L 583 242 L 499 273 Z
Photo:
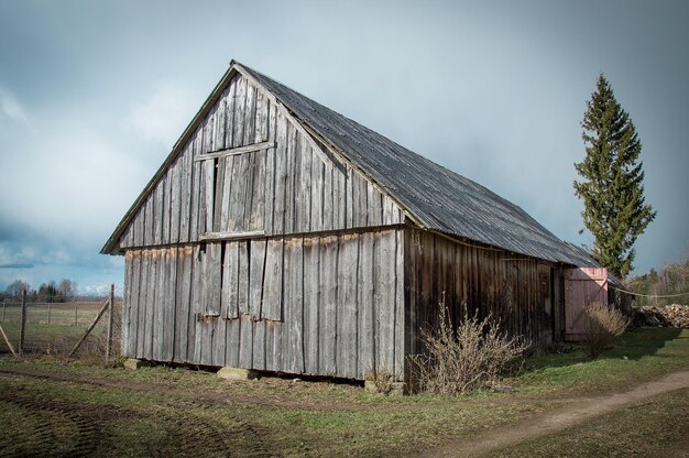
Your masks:
M 25 303 L 23 356 L 68 357 L 108 302 L 109 296 L 92 297 L 89 302 Z M 20 348 L 21 297 L 6 298 L 0 307 L 0 327 L 9 340 L 8 342 L 0 336 L 0 357 L 11 357 L 13 352 L 19 352 Z M 120 355 L 121 310 L 122 302 L 116 299 L 114 307 L 112 307 L 111 357 Z M 95 324 L 88 337 L 74 355 L 75 357 L 101 359 L 106 356 L 109 313 L 110 310 L 106 310 L 101 319 Z

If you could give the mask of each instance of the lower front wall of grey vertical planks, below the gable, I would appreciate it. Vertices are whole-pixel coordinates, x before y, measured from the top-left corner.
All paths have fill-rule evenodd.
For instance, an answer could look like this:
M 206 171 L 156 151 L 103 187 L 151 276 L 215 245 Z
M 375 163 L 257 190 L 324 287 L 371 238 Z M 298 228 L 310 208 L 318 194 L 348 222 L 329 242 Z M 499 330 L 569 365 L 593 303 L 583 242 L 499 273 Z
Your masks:
M 133 358 L 404 377 L 404 229 L 128 250 Z

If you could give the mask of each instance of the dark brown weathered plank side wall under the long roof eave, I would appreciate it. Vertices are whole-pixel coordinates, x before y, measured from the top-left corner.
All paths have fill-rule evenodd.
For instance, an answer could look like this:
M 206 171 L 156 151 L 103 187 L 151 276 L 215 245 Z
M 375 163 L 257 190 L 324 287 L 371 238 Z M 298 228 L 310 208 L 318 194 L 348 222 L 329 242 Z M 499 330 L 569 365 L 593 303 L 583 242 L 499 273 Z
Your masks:
M 423 351 L 420 329 L 435 328 L 441 303 L 457 324 L 464 307 L 500 319 L 512 336 L 534 344 L 559 337 L 555 325 L 564 304 L 555 265 L 507 251 L 468 247 L 441 236 L 405 230 L 406 353 Z

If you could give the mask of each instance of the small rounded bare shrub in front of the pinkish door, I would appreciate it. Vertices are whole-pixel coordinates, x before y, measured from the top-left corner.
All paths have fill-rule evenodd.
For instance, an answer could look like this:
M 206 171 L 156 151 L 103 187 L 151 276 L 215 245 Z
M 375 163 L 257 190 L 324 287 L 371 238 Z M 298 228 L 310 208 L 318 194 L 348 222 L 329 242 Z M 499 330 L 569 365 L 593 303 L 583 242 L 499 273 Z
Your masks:
M 630 318 L 614 307 L 592 303 L 581 312 L 583 344 L 591 358 L 598 357 L 630 326 Z

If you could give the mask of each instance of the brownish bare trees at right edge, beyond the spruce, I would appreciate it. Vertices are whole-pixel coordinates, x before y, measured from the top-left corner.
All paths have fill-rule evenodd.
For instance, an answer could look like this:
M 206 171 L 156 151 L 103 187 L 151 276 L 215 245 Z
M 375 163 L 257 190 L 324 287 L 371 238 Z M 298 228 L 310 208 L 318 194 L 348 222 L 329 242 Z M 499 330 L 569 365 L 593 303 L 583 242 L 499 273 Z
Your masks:
M 689 253 L 683 263 L 666 264 L 660 272 L 650 269 L 648 273 L 628 279 L 634 293 L 648 296 L 667 296 L 689 292 Z M 636 305 L 689 305 L 689 295 L 679 297 L 636 297 Z

